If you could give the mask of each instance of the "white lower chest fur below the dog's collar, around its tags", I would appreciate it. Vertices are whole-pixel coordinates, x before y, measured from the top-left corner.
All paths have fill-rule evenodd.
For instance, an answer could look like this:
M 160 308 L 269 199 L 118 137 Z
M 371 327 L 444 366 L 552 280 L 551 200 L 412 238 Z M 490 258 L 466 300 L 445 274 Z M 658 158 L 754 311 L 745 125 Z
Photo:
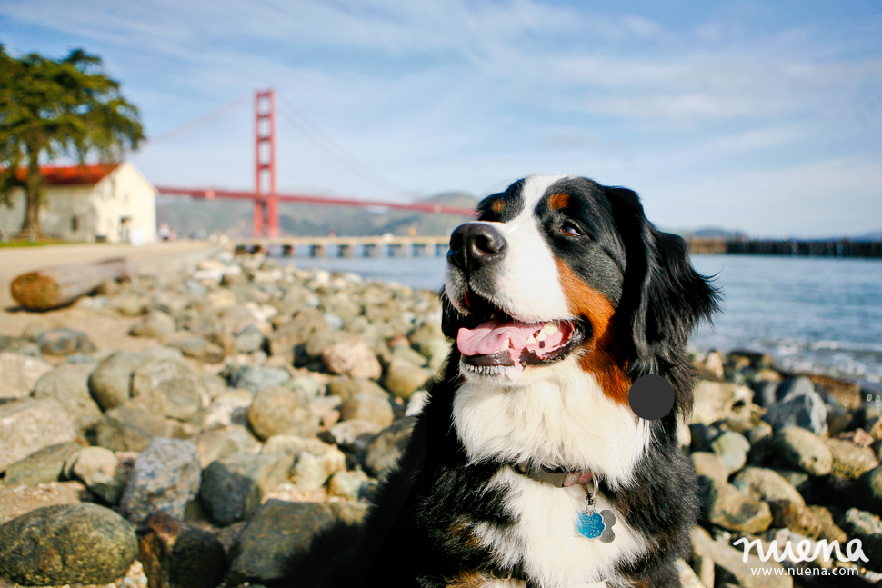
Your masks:
M 616 563 L 646 551 L 646 541 L 621 513 L 616 514 L 616 539 L 602 543 L 576 531 L 576 519 L 585 508 L 581 486 L 556 488 L 504 468 L 492 486 L 507 489 L 506 511 L 517 523 L 506 529 L 475 525 L 474 533 L 502 566 L 524 563 L 525 572 L 544 588 L 580 588 L 610 580 Z M 598 509 L 610 505 L 598 497 Z M 599 584 L 603 585 L 603 584 Z

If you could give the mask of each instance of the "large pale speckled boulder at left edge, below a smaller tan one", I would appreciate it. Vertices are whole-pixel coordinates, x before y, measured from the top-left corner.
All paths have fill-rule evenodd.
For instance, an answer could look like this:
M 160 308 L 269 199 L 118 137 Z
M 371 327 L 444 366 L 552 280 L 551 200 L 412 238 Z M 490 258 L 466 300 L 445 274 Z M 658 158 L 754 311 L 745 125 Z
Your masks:
M 55 398 L 0 404 L 0 471 L 44 447 L 75 438 L 74 424 Z

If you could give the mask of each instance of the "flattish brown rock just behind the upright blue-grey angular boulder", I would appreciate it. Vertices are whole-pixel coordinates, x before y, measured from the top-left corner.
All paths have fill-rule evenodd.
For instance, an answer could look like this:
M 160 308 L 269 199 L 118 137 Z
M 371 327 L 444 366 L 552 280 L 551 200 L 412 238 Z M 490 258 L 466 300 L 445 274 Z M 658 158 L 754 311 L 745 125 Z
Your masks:
M 111 451 L 142 452 L 154 437 L 173 437 L 175 422 L 136 399 L 107 411 L 95 424 L 95 443 Z

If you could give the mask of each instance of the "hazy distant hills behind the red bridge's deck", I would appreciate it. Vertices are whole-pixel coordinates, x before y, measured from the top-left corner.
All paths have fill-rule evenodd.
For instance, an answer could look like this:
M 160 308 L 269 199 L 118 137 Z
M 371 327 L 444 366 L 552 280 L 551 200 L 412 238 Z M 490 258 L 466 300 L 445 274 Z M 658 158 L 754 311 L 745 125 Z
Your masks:
M 474 208 L 477 199 L 460 192 L 436 194 L 426 204 L 456 208 Z M 156 199 L 156 221 L 165 223 L 180 235 L 227 234 L 231 237 L 251 236 L 253 205 L 238 200 L 187 200 L 160 196 Z M 324 236 L 334 232 L 340 236 L 372 234 L 446 235 L 467 219 L 453 214 L 427 214 L 348 206 L 312 204 L 279 204 L 279 229 L 283 235 Z

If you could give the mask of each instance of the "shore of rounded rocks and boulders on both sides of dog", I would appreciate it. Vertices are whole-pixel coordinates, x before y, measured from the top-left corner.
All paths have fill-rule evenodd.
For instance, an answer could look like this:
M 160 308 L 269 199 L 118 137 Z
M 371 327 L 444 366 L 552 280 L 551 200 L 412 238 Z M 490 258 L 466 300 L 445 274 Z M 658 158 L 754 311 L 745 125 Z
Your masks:
M 229 253 L 3 314 L 0 586 L 308 585 L 406 443 L 449 348 L 440 314 L 435 293 Z M 764 355 L 695 362 L 684 585 L 882 580 L 882 409 Z M 742 537 L 857 539 L 868 561 L 745 563 Z M 798 573 L 755 573 L 781 566 Z

